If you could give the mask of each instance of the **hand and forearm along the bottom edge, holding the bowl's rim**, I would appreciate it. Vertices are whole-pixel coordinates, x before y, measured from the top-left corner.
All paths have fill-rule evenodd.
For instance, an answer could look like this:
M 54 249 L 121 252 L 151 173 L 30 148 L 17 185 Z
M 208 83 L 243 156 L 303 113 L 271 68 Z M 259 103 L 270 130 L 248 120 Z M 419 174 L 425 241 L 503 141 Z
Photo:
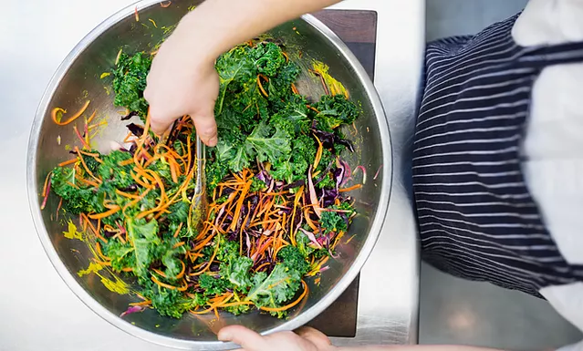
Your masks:
M 219 340 L 243 347 L 243 351 L 500 351 L 474 346 L 360 346 L 336 347 L 318 330 L 303 327 L 293 332 L 260 336 L 241 325 L 225 326 Z

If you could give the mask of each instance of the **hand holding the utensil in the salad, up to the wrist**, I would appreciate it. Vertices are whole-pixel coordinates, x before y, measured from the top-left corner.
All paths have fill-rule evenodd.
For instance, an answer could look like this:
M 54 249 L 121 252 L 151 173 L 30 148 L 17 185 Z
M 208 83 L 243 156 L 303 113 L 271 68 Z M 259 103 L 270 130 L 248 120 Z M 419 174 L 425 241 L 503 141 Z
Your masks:
M 189 115 L 203 143 L 215 146 L 214 101 L 219 94 L 216 57 L 188 46 L 192 42 L 192 32 L 184 33 L 178 26 L 161 45 L 151 65 L 144 98 L 150 104 L 155 133 L 163 134 L 175 119 Z

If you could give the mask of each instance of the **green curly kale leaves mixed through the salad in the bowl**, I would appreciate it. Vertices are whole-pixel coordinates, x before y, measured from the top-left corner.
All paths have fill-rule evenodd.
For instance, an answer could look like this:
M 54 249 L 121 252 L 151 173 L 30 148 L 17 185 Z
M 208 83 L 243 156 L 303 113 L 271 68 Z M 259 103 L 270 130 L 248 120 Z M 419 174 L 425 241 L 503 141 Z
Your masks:
M 112 70 L 114 104 L 130 109 L 130 116 L 137 114 L 144 119 L 147 114 L 143 90 L 150 67 L 151 55 L 120 53 Z M 265 178 L 253 178 L 248 188 L 250 196 L 261 198 L 263 195 L 257 196 L 257 192 L 265 191 L 267 186 L 274 191 L 297 191 L 302 184 L 307 184 L 308 169 L 314 165 L 317 154 L 321 154 L 321 159 L 312 174 L 319 180 L 318 196 L 337 191 L 332 164 L 340 151 L 351 150 L 340 129 L 358 117 L 358 108 L 339 95 L 325 96 L 316 102 L 298 95 L 292 85 L 300 68 L 276 43 L 236 46 L 216 60 L 215 68 L 220 82 L 214 108 L 219 140 L 215 148 L 207 150 L 205 176 L 209 194 L 230 173 L 254 168 L 257 162 L 263 163 L 260 168 L 268 174 L 263 174 Z M 135 124 L 130 130 L 137 136 L 143 133 L 143 127 Z M 153 135 L 151 138 L 157 140 Z M 188 138 L 194 140 L 195 134 L 181 134 L 169 143 L 175 151 L 172 156 L 175 160 L 184 160 L 188 154 Z M 310 262 L 328 255 L 328 248 L 322 249 L 305 232 L 298 231 L 297 245 L 282 247 L 276 257 L 272 249 L 265 254 L 257 253 L 257 246 L 265 243 L 255 239 L 261 232 L 256 229 L 245 232 L 245 228 L 225 230 L 229 220 L 218 224 L 215 218 L 220 219 L 221 214 L 212 212 L 209 222 L 217 223 L 225 232 L 219 230 L 212 242 L 194 250 L 200 238 L 187 225 L 192 220 L 193 181 L 178 188 L 187 179 L 187 167 L 184 165 L 184 170 L 176 174 L 176 169 L 171 170 L 170 158 L 156 155 L 159 151 L 155 148 L 149 151 L 155 157 L 143 165 L 145 170 L 135 168 L 131 160 L 133 151 L 100 154 L 90 150 L 88 153 L 97 157 L 80 155 L 83 167 L 80 164 L 72 168 L 57 167 L 51 175 L 52 189 L 63 199 L 66 212 L 111 212 L 100 216 L 103 218 L 99 222 L 101 233 L 108 240 L 97 240 L 113 271 L 136 277 L 141 296 L 151 300 L 151 306 L 161 315 L 175 318 L 189 310 L 208 308 L 215 301 L 209 301 L 212 297 L 226 293 L 232 294 L 232 302 L 241 301 L 241 304 L 221 307 L 234 315 L 247 313 L 252 308 L 283 307 L 297 298 Z M 144 171 L 155 174 L 155 181 L 144 176 Z M 332 200 L 340 198 L 336 194 Z M 216 204 L 232 201 L 228 191 L 220 195 L 214 201 Z M 246 202 L 242 211 L 249 213 L 251 208 L 256 209 L 259 201 L 254 201 Z M 167 207 L 157 214 L 151 213 L 160 205 Z M 290 202 L 279 196 L 272 205 L 283 212 L 289 211 Z M 229 216 L 234 217 L 234 205 L 229 208 Z M 346 231 L 355 213 L 352 206 L 343 202 L 327 210 L 331 211 L 322 212 L 317 223 L 322 231 L 316 235 Z M 257 240 L 251 249 L 243 235 L 252 237 L 247 241 Z M 263 232 L 263 235 L 268 234 Z M 249 249 L 252 253 L 255 250 L 255 255 L 247 257 Z M 205 272 L 192 274 L 199 269 Z M 271 314 L 283 317 L 286 312 Z

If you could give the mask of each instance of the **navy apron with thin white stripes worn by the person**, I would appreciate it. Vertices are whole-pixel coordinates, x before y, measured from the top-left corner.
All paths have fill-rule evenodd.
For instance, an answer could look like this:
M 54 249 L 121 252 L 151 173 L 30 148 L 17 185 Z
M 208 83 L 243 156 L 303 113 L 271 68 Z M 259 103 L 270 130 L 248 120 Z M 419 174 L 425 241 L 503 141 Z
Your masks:
M 568 264 L 545 228 L 520 145 L 536 77 L 583 62 L 583 43 L 518 46 L 516 18 L 428 46 L 413 187 L 426 261 L 539 296 L 542 287 L 583 281 L 583 266 Z

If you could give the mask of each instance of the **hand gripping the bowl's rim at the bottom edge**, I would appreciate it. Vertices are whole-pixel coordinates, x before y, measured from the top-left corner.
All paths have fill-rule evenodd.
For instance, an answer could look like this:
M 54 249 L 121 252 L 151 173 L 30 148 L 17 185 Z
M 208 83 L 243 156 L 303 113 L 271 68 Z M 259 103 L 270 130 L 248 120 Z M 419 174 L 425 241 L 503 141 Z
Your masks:
M 219 332 L 219 340 L 233 342 L 245 351 L 332 351 L 328 336 L 310 327 L 294 332 L 279 332 L 260 336 L 241 325 L 226 326 Z

